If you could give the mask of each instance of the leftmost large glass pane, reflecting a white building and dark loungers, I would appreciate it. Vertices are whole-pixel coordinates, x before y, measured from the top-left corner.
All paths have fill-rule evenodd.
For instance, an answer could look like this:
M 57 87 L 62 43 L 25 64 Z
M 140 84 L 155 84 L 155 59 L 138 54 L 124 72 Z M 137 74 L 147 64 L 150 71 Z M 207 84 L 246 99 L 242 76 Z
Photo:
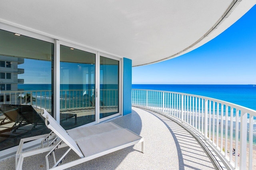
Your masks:
M 53 49 L 54 43 L 0 30 L 0 152 L 4 154 L 21 138 L 50 132 L 40 113 L 44 108 L 52 114 Z

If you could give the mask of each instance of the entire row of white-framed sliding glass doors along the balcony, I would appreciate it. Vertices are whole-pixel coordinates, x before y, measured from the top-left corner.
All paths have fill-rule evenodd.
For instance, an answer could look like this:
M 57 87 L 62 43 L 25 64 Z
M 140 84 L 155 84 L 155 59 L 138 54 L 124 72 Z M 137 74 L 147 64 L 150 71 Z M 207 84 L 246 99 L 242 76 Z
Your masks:
M 50 132 L 43 109 L 66 130 L 120 115 L 120 58 L 24 33 L 0 30 L 0 156 Z

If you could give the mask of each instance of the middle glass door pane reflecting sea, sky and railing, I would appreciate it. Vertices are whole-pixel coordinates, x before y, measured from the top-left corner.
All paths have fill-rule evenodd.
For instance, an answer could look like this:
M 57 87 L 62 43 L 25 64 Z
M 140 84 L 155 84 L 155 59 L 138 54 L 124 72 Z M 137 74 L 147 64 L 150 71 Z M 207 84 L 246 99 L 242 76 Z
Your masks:
M 60 125 L 65 129 L 95 121 L 94 53 L 60 45 Z

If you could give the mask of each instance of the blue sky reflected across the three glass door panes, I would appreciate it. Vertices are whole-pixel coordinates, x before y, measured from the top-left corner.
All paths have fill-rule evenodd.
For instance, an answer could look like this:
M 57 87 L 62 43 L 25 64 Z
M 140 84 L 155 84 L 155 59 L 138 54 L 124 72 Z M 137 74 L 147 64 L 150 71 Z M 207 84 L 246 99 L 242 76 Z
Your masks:
M 94 84 L 95 65 L 91 67 L 92 74 L 89 80 L 88 67 L 91 64 L 83 63 L 60 63 L 60 83 L 61 84 Z M 51 84 L 52 73 L 51 61 L 42 61 L 37 59 L 24 59 L 24 63 L 18 66 L 24 69 L 24 74 L 19 74 L 19 79 L 24 79 L 24 84 Z M 118 66 L 117 65 L 101 65 L 100 66 L 100 83 L 101 84 L 117 84 L 118 82 Z M 104 76 L 103 76 L 104 75 Z

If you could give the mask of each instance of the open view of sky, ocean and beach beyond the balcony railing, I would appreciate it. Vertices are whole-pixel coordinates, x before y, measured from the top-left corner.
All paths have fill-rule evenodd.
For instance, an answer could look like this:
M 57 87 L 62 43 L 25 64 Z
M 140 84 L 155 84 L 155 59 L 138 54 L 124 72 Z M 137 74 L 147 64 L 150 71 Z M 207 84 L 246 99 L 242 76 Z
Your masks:
M 252 16 L 256 15 L 256 8 L 250 10 L 246 15 L 244 15 L 238 22 L 228 28 L 225 32 L 220 34 L 214 40 L 206 43 L 202 47 L 191 51 L 181 57 L 174 58 L 172 60 L 163 61 L 161 63 L 156 63 L 153 65 L 145 65 L 141 67 L 133 68 L 133 89 L 138 89 L 134 91 L 134 105 L 141 105 L 137 100 L 144 100 L 144 91 L 140 89 L 152 90 L 152 91 L 170 91 L 177 93 L 186 93 L 189 95 L 200 95 L 204 97 L 210 97 L 214 99 L 219 99 L 222 101 L 227 101 L 234 103 L 236 105 L 241 105 L 252 110 L 256 110 L 256 59 L 255 59 L 255 48 L 253 47 L 256 44 L 256 29 L 255 18 Z M 239 29 L 239 31 L 238 31 Z M 235 33 L 236 32 L 236 33 Z M 235 33 L 235 34 L 234 34 Z M 182 65 L 182 67 L 179 67 Z M 154 81 L 153 81 L 154 80 Z M 151 92 L 147 92 L 151 93 Z M 152 92 L 153 98 L 154 94 L 158 92 Z M 151 107 L 161 110 L 162 104 L 162 92 L 161 94 L 156 95 L 156 99 L 147 99 L 148 102 L 153 102 L 153 104 L 148 104 Z M 146 92 L 145 92 L 146 94 Z M 159 97 L 159 96 L 160 97 Z M 166 95 L 166 94 L 165 94 Z M 169 103 L 172 103 L 172 97 L 168 100 Z M 184 99 L 185 100 L 185 99 Z M 188 99 L 190 100 L 190 99 Z M 145 100 L 144 100 L 145 101 Z M 155 102 L 160 102 L 156 104 Z M 165 101 L 166 102 L 166 101 Z M 168 102 L 165 105 L 168 105 Z M 177 101 L 177 103 L 180 101 Z M 186 101 L 185 101 L 186 102 Z M 187 104 L 184 104 L 185 115 L 188 115 L 188 120 L 185 121 L 191 124 L 196 118 L 197 121 L 203 123 L 203 117 L 198 118 L 194 117 L 194 114 L 204 114 L 202 109 L 198 111 L 190 110 L 191 103 L 188 101 Z M 156 105 L 155 105 L 156 104 Z M 145 106 L 142 102 L 142 105 Z M 147 106 L 148 106 L 147 105 Z M 178 104 L 179 105 L 179 104 Z M 190 106 L 189 106 L 190 105 Z M 236 126 L 240 127 L 240 112 L 239 118 L 236 119 L 236 111 L 228 108 L 228 111 L 225 111 L 225 106 L 223 109 L 223 116 L 221 117 L 221 108 L 219 107 L 219 112 L 217 115 L 217 110 L 213 112 L 213 108 L 217 109 L 217 105 L 211 105 L 211 110 L 208 110 L 210 113 L 210 118 L 208 118 L 208 128 L 214 127 L 214 137 L 218 135 L 218 144 L 217 147 L 220 147 L 220 150 L 233 154 L 232 162 L 238 162 L 239 158 L 235 157 L 235 154 L 238 153 L 235 150 L 235 143 L 233 142 L 230 146 L 230 131 L 232 130 L 232 140 L 236 138 Z M 167 111 L 168 115 L 172 115 L 174 112 L 174 117 L 177 116 L 178 111 L 172 110 L 172 104 L 169 105 L 170 111 Z M 192 104 L 193 107 L 193 104 Z M 195 106 L 196 107 L 196 106 Z M 179 110 L 177 106 L 177 110 Z M 209 109 L 209 108 L 208 108 Z M 200 110 L 200 107 L 199 107 Z M 162 110 L 161 110 L 162 111 Z M 187 113 L 186 113 L 187 112 Z M 192 117 L 190 117 L 192 115 Z M 227 117 L 226 117 L 227 115 Z M 179 116 L 179 115 L 178 115 Z M 252 116 L 252 130 L 249 130 L 250 117 Z M 227 120 L 226 120 L 227 119 Z M 246 115 L 247 122 L 247 143 L 249 143 L 249 131 L 252 131 L 252 141 L 253 141 L 253 160 L 256 159 L 256 115 Z M 210 121 L 210 122 L 209 122 Z M 226 123 L 227 121 L 227 123 Z M 232 123 L 231 123 L 232 121 Z M 236 122 L 239 122 L 236 125 Z M 193 125 L 194 125 L 193 123 Z M 224 124 L 224 127 L 222 127 Z M 230 128 L 230 125 L 233 127 Z M 200 125 L 199 125 L 200 126 Z M 202 125 L 203 126 L 203 125 Z M 225 127 L 227 128 L 225 129 Z M 199 131 L 202 130 L 202 127 L 198 127 L 198 124 L 195 127 Z M 218 130 L 217 130 L 218 129 Z M 228 130 L 227 136 L 225 137 L 225 130 Z M 223 134 L 221 134 L 223 132 Z M 221 136 L 224 135 L 224 136 Z M 209 132 L 208 132 L 209 137 Z M 216 142 L 212 139 L 213 134 L 210 140 L 214 143 Z M 227 147 L 225 148 L 225 140 L 221 140 L 223 137 L 228 139 Z M 240 138 L 240 137 L 239 137 Z M 234 150 L 233 150 L 234 149 Z M 240 150 L 240 148 L 237 148 Z M 228 150 L 228 151 L 227 151 Z M 233 150 L 233 152 L 232 152 Z M 249 156 L 247 148 L 247 156 Z M 224 153 L 227 154 L 227 153 Z M 238 159 L 238 160 L 236 160 Z M 255 161 L 254 161 L 255 162 Z M 247 162 L 248 163 L 248 162 Z M 256 168 L 256 163 L 253 163 L 253 167 Z

